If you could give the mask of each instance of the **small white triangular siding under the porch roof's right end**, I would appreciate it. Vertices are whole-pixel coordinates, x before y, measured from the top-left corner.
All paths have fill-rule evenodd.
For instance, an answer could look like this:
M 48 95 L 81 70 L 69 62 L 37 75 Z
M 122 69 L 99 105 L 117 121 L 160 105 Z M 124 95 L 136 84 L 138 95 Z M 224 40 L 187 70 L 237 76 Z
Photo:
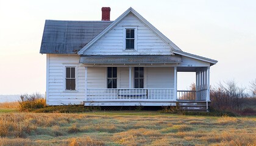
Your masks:
M 180 63 L 180 66 L 210 66 L 210 63 L 182 56 L 182 63 Z

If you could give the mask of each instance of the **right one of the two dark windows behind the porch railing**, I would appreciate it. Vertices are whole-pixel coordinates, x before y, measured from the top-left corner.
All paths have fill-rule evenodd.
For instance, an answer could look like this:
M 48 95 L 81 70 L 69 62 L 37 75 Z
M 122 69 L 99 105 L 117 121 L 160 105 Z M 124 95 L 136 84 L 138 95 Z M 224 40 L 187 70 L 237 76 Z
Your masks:
M 144 68 L 134 68 L 134 88 L 144 88 Z

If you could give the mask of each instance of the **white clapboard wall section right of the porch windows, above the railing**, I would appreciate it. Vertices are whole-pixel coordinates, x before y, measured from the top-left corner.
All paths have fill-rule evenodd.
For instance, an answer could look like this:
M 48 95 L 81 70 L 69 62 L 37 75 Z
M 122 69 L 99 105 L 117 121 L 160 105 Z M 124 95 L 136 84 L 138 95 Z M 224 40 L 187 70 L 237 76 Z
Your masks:
M 148 88 L 174 88 L 174 68 L 147 68 Z

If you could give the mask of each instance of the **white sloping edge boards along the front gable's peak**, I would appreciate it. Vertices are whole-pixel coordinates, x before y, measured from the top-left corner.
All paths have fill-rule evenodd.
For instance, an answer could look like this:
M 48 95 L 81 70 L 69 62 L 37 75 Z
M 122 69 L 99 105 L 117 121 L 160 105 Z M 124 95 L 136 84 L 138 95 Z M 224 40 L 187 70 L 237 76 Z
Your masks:
M 121 22 L 130 13 L 133 13 L 133 15 L 137 16 L 137 18 L 140 19 L 140 21 L 142 21 L 144 24 L 146 24 L 146 26 L 148 26 L 149 29 L 151 29 L 153 32 L 155 32 L 160 38 L 162 38 L 162 40 L 166 41 L 166 43 L 168 43 L 172 47 L 172 49 L 181 50 L 181 49 L 179 49 L 179 47 L 176 46 L 176 44 L 172 43 L 171 40 L 169 40 L 165 35 L 163 35 L 163 33 L 161 33 L 154 26 L 152 26 L 151 23 L 149 23 L 146 19 L 144 19 L 143 16 L 141 16 L 138 12 L 136 12 L 134 9 L 132 9 L 132 7 L 130 7 L 129 9 L 126 10 L 126 12 L 124 12 L 115 21 L 113 21 L 113 23 L 110 24 L 105 30 L 103 30 L 101 33 L 99 33 L 98 36 L 93 38 L 93 40 L 91 40 L 86 46 L 84 46 L 81 50 L 79 50 L 79 52 L 77 54 L 79 54 L 79 55 L 84 54 L 84 51 L 86 49 L 88 49 L 90 46 L 92 46 L 94 43 L 96 43 L 96 41 L 98 41 L 100 38 L 102 38 L 102 36 L 104 36 L 106 33 L 108 33 L 109 30 L 113 29 L 113 27 L 115 27 L 119 22 Z

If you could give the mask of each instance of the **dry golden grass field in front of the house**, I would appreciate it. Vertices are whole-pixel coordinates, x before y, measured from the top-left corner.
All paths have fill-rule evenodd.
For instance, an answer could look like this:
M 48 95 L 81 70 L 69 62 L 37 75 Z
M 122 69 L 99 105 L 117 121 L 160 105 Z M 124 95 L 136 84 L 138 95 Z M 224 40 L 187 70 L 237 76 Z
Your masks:
M 255 117 L 1 113 L 0 145 L 256 145 Z

